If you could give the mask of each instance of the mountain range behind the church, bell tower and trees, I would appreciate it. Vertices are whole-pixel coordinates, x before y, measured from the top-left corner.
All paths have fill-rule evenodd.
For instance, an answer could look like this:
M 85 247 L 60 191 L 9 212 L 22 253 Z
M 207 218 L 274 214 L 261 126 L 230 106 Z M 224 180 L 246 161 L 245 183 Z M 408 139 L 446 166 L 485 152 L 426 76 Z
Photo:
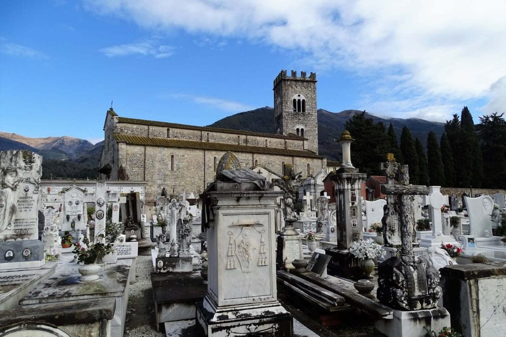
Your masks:
M 335 139 L 341 137 L 345 122 L 360 110 L 330 112 L 318 109 L 319 153 L 330 160 L 341 158 L 341 148 Z M 434 131 L 438 139 L 444 131 L 444 123 L 419 118 L 382 118 L 366 112 L 374 122 L 383 122 L 386 128 L 393 124 L 400 140 L 402 128 L 408 127 L 413 137 L 426 144 L 427 134 Z M 207 125 L 212 128 L 245 130 L 261 133 L 275 133 L 273 108 L 264 107 L 236 113 Z M 87 140 L 73 137 L 30 138 L 18 134 L 0 132 L 0 150 L 29 149 L 43 156 L 43 179 L 51 177 L 95 179 L 98 176 L 100 152 L 104 141 L 92 144 Z

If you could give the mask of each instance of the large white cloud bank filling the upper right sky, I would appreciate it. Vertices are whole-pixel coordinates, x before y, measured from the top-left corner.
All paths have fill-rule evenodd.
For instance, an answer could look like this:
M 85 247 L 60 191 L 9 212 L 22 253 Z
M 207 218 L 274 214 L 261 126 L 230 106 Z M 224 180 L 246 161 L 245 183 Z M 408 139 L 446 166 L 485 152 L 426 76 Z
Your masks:
M 156 31 L 184 29 L 296 50 L 316 70 L 384 76 L 373 96 L 395 103 L 404 93 L 404 112 L 443 111 L 488 97 L 503 104 L 493 92 L 506 75 L 506 2 L 88 0 L 86 7 Z M 416 108 L 419 97 L 425 105 Z

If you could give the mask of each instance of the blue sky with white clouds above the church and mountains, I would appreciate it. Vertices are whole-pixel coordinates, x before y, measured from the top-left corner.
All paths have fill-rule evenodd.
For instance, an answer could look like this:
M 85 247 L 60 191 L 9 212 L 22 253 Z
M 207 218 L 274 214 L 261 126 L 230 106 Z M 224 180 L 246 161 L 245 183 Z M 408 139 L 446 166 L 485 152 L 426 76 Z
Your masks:
M 317 72 L 329 111 L 478 121 L 506 111 L 501 3 L 4 1 L 0 131 L 97 142 L 111 99 L 206 125 L 272 106 L 281 69 Z

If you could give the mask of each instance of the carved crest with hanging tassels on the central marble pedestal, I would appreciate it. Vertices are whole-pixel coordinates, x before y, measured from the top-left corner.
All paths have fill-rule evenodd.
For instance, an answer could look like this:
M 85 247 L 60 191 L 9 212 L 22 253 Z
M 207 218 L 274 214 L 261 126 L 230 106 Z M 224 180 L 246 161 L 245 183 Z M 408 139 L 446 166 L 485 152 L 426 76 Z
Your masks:
M 265 245 L 265 229 L 257 229 L 264 226 L 259 223 L 236 223 L 229 227 L 235 227 L 229 231 L 226 269 L 236 269 L 237 262 L 243 273 L 254 271 L 256 266 L 268 266 L 268 251 Z

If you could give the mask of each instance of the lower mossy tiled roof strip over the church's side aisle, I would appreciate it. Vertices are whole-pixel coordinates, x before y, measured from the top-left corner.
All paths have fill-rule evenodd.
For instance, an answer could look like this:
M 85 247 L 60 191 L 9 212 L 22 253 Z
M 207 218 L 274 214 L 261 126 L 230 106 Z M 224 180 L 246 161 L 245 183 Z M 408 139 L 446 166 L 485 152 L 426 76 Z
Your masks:
M 324 158 L 311 151 L 305 150 L 292 150 L 292 149 L 279 149 L 274 147 L 262 146 L 247 146 L 235 144 L 223 144 L 214 142 L 200 142 L 191 140 L 182 140 L 176 138 L 148 138 L 126 134 L 114 134 L 116 142 L 125 142 L 127 144 L 147 145 L 147 146 L 162 146 L 162 147 L 179 147 L 187 149 L 201 149 L 201 150 L 221 150 L 232 152 L 251 152 L 251 153 L 265 153 L 277 154 L 284 156 L 296 156 L 307 158 Z

